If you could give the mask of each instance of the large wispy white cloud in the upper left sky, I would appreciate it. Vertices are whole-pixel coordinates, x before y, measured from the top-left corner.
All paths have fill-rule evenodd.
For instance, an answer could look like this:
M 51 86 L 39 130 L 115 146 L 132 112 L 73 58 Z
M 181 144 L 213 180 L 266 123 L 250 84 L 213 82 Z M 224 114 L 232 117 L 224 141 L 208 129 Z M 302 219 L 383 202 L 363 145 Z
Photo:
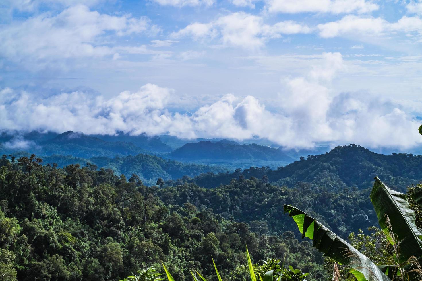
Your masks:
M 110 35 L 158 30 L 146 17 L 109 16 L 76 5 L 57 15 L 43 13 L 5 26 L 0 30 L 0 56 L 28 68 L 43 68 L 66 59 L 113 56 L 116 50 L 106 42 Z

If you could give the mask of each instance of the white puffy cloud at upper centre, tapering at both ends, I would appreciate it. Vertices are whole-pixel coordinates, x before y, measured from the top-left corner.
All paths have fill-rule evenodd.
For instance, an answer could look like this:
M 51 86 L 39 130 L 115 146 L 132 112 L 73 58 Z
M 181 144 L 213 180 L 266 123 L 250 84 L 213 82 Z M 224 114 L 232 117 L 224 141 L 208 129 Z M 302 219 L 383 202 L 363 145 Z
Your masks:
M 310 33 L 311 28 L 295 21 L 281 21 L 273 25 L 265 24 L 261 16 L 236 12 L 220 16 L 209 23 L 192 23 L 171 34 L 172 37 L 191 36 L 193 39 L 218 38 L 223 46 L 235 46 L 257 49 L 264 46 L 271 38 L 280 38 L 283 34 Z

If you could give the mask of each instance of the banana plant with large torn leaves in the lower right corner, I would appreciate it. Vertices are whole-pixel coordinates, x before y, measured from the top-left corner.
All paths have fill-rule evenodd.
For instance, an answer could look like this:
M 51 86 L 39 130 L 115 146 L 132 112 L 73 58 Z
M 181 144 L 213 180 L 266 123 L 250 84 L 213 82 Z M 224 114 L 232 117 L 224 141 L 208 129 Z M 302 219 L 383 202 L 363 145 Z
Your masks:
M 422 271 L 422 233 L 416 226 L 415 212 L 410 209 L 406 194 L 391 190 L 378 177 L 371 192 L 371 201 L 379 225 L 394 247 L 395 264 L 377 266 L 352 245 L 299 209 L 284 205 L 302 233 L 313 240 L 313 246 L 337 262 L 348 265 L 358 281 L 420 281 Z M 422 203 L 422 188 L 412 193 L 413 200 Z

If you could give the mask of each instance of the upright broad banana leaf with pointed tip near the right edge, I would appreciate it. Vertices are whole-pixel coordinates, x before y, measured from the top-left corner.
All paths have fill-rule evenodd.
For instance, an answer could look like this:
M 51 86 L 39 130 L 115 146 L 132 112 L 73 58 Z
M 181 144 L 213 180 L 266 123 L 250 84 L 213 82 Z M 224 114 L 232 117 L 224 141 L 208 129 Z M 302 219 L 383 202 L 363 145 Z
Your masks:
M 415 212 L 410 209 L 406 194 L 390 189 L 376 177 L 370 197 L 381 229 L 390 243 L 399 243 L 398 262 L 405 263 L 412 256 L 421 257 L 422 233 L 415 224 Z M 387 226 L 387 217 L 390 219 L 391 229 Z

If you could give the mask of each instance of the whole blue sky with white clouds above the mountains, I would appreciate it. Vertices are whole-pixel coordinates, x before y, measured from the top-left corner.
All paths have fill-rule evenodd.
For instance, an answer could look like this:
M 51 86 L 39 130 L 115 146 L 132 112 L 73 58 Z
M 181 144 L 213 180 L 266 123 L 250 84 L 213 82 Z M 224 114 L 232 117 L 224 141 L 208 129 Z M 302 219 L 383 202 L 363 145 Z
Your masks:
M 2 0 L 0 130 L 422 145 L 422 2 Z

